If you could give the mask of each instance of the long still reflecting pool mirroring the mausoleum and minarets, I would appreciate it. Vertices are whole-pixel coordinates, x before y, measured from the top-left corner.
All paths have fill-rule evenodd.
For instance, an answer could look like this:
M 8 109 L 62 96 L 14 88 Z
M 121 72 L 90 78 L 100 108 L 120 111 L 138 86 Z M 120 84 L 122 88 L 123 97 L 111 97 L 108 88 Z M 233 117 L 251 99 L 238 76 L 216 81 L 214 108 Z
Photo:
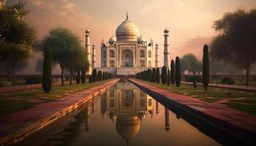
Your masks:
M 220 144 L 131 82 L 118 82 L 18 145 Z

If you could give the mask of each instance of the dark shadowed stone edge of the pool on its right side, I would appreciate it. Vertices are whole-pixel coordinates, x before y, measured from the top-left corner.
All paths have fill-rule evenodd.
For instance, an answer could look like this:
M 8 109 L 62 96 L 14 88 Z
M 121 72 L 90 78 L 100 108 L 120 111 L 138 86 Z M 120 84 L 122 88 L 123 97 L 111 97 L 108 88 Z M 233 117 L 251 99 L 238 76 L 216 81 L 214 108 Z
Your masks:
M 167 106 L 174 107 L 176 110 L 180 110 L 181 112 L 185 112 L 187 115 L 196 118 L 197 120 L 200 120 L 201 123 L 206 123 L 209 126 L 212 126 L 214 128 L 217 128 L 217 130 L 222 131 L 225 134 L 229 134 L 231 137 L 234 137 L 241 142 L 246 143 L 246 145 L 255 145 L 256 143 L 256 131 L 255 127 L 252 128 L 252 126 L 239 126 L 237 123 L 228 123 L 226 120 L 222 120 L 221 118 L 216 118 L 213 115 L 208 115 L 206 112 L 202 112 L 200 110 L 196 110 L 195 108 L 192 108 L 191 106 L 187 104 L 182 104 L 176 100 L 167 98 L 165 94 L 157 93 L 155 91 L 151 91 L 150 89 L 144 87 L 143 85 L 140 85 L 139 80 L 135 80 L 132 78 L 129 78 L 129 81 L 132 82 L 134 85 L 136 85 L 141 90 L 145 91 L 151 96 L 156 96 L 157 99 L 160 99 L 161 101 L 165 102 Z M 144 83 L 142 83 L 144 84 Z M 151 85 L 148 85 L 151 86 Z M 152 86 L 153 87 L 153 86 Z M 154 87 L 156 88 L 156 87 Z M 160 88 L 158 88 L 160 89 Z M 160 89 L 164 90 L 164 89 Z M 164 90 L 165 91 L 165 90 Z M 255 120 L 256 121 L 256 120 Z

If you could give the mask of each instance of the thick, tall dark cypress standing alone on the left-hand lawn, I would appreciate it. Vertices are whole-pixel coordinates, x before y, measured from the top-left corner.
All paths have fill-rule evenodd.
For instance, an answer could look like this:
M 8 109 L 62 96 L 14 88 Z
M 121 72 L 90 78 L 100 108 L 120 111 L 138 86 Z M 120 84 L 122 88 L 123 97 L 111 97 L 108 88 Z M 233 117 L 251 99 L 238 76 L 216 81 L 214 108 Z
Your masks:
M 52 85 L 51 76 L 52 52 L 50 47 L 45 47 L 44 63 L 42 66 L 42 89 L 49 93 Z

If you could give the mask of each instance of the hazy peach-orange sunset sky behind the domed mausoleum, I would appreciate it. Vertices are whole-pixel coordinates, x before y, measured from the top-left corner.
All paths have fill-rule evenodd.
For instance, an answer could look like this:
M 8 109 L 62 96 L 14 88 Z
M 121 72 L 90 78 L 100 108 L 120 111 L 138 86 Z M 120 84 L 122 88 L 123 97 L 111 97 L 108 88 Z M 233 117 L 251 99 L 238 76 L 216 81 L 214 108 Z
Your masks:
M 116 34 L 116 28 L 126 19 L 132 20 L 140 34 L 149 42 L 159 44 L 159 65 L 163 64 L 164 29 L 170 31 L 170 58 L 194 53 L 201 60 L 203 45 L 217 35 L 214 20 L 225 12 L 238 8 L 252 9 L 256 0 L 25 0 L 29 10 L 26 20 L 43 39 L 50 28 L 66 27 L 80 36 L 91 30 L 91 44 L 97 47 L 100 66 L 100 42 Z M 40 55 L 36 55 L 37 58 Z M 34 66 L 31 59 L 30 66 Z M 153 64 L 154 65 L 154 64 Z M 33 68 L 33 67 L 30 67 Z M 31 72 L 30 69 L 24 71 Z

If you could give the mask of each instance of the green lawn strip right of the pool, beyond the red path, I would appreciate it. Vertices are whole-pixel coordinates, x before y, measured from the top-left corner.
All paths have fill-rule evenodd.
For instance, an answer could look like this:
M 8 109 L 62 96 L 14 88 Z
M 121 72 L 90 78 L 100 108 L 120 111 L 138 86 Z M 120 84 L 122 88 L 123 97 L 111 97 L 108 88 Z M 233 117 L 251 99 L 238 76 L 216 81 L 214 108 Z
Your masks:
M 188 96 L 192 96 L 196 99 L 200 99 L 207 102 L 219 102 L 225 104 L 236 110 L 249 112 L 256 114 L 256 92 L 252 91 L 238 91 L 227 88 L 208 88 L 208 92 L 205 93 L 202 86 L 197 86 L 196 93 L 192 85 L 182 84 L 179 88 L 176 86 L 163 85 L 162 83 L 145 82 L 148 85 L 153 85 L 158 88 L 172 91 L 174 93 L 180 93 Z

